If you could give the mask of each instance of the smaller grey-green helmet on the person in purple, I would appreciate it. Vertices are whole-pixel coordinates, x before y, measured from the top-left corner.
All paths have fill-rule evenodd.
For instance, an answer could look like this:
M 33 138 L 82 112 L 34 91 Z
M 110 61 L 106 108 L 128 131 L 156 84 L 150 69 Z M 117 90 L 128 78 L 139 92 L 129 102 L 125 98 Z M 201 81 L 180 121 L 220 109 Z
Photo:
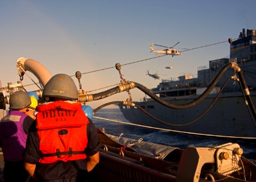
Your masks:
M 9 109 L 24 109 L 31 104 L 30 96 L 26 92 L 23 92 L 21 90 L 13 92 L 12 95 L 10 95 L 9 104 Z

